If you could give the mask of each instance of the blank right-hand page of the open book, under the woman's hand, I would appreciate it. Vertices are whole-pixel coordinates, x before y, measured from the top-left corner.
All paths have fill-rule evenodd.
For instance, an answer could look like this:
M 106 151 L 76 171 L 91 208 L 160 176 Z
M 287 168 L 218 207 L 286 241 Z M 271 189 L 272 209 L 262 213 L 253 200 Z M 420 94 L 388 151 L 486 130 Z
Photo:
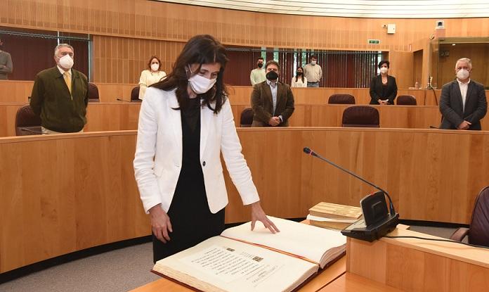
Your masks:
M 221 235 L 251 243 L 268 246 L 292 253 L 313 262 L 325 262 L 325 254 L 330 251 L 332 258 L 346 249 L 346 237 L 340 231 L 324 229 L 299 222 L 268 216 L 280 232 L 272 234 L 261 222 L 256 222 L 254 231 L 251 222 L 224 230 Z

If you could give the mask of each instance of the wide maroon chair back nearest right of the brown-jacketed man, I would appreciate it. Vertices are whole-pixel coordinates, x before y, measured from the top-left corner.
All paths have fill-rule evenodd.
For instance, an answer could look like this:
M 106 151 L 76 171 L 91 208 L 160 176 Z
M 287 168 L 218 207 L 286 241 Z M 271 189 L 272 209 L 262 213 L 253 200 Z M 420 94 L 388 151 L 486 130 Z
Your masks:
M 343 127 L 379 127 L 379 110 L 372 106 L 350 106 L 343 111 Z

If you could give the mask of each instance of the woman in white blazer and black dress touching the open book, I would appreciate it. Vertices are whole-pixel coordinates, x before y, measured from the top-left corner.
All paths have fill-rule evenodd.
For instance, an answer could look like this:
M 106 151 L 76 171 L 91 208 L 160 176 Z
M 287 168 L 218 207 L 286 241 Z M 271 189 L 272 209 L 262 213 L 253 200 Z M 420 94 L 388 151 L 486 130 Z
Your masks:
M 221 153 L 244 205 L 275 233 L 241 153 L 223 82 L 228 58 L 210 35 L 188 40 L 141 104 L 134 170 L 150 214 L 155 262 L 216 236 L 228 203 Z

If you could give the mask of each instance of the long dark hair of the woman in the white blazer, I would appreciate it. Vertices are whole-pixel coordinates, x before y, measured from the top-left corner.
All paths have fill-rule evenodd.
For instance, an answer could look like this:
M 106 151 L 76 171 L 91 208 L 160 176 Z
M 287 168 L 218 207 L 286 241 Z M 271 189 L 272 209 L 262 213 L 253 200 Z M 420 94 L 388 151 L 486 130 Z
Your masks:
M 209 63 L 221 64 L 221 70 L 219 70 L 214 87 L 204 94 L 197 95 L 197 97 L 204 100 L 202 106 L 207 106 L 214 113 L 219 113 L 228 96 L 223 82 L 224 69 L 226 68 L 226 63 L 228 63 L 228 57 L 226 56 L 226 49 L 221 42 L 209 34 L 200 34 L 189 39 L 187 44 L 183 46 L 180 56 L 176 58 L 171 73 L 164 80 L 152 84 L 151 87 L 165 91 L 176 89 L 178 105 L 180 108 L 187 108 L 189 104 L 187 87 L 188 78 L 190 77 L 187 75 L 187 71 L 188 66 L 195 63 L 200 65 Z M 199 70 L 200 66 L 197 68 L 197 72 Z M 215 103 L 214 108 L 212 108 L 211 103 Z

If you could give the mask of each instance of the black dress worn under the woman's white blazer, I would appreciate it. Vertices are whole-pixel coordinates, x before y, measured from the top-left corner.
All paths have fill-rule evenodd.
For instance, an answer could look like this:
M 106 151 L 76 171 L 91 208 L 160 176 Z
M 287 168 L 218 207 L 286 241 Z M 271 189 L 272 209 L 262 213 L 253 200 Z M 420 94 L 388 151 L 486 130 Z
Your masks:
M 200 99 L 190 99 L 181 108 L 182 168 L 174 197 L 168 210 L 173 232 L 170 241 L 162 243 L 153 236 L 153 260 L 161 260 L 195 246 L 224 229 L 224 209 L 213 214 L 209 210 L 204 174 L 200 161 Z

